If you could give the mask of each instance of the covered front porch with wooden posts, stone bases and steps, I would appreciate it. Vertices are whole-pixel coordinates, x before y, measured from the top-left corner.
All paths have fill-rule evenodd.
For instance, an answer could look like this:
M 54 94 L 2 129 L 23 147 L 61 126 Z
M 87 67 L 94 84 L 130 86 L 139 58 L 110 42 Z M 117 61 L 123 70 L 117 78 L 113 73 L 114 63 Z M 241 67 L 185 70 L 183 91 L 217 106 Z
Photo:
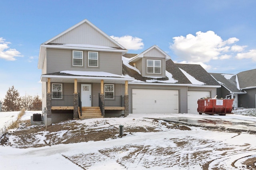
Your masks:
M 134 79 L 104 72 L 103 75 L 108 76 L 81 76 L 61 72 L 43 74 L 41 80 L 47 86 L 47 118 L 52 119 L 55 116 L 52 113 L 61 115 L 62 111 L 72 111 L 73 119 L 106 117 L 108 113 L 121 112 L 127 116 L 128 82 Z

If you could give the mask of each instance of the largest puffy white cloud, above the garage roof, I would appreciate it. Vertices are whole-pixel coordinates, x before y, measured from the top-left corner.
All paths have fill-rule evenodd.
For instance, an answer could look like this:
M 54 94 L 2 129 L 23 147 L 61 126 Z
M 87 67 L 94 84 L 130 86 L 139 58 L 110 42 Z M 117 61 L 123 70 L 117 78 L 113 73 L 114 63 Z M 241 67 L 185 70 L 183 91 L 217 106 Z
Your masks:
M 170 49 L 189 63 L 207 63 L 210 60 L 228 59 L 228 56 L 225 55 L 230 51 L 228 44 L 239 41 L 235 37 L 223 41 L 214 31 L 206 33 L 198 31 L 196 36 L 188 34 L 186 37 L 173 37 L 173 39 L 174 43 L 170 45 Z

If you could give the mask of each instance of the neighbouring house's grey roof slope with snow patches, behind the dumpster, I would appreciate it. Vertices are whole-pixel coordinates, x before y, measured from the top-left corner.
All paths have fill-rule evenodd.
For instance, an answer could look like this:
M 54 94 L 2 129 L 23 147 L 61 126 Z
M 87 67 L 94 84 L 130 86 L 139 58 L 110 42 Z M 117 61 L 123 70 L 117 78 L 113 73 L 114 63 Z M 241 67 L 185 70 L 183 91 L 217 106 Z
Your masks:
M 244 93 L 240 90 L 236 74 L 210 73 L 219 84 L 230 91 L 230 93 Z

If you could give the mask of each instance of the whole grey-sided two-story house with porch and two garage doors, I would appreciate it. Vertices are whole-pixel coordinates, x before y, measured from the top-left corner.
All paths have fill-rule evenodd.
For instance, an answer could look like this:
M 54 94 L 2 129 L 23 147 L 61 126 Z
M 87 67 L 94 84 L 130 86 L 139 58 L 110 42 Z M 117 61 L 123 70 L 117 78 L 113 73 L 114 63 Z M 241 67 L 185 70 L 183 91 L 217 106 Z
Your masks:
M 88 20 L 42 43 L 38 68 L 46 124 L 130 113 L 194 113 L 198 98 L 214 97 L 220 87 L 200 65 L 174 64 L 156 45 L 138 55 L 127 51 Z

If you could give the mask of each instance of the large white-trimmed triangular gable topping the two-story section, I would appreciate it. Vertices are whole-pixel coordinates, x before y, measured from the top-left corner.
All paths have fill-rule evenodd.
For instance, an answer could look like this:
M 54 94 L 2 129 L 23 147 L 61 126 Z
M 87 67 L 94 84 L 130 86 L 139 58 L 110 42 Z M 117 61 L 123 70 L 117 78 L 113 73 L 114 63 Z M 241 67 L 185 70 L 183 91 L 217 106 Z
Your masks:
M 93 34 L 90 31 L 93 31 Z M 99 40 L 96 41 L 95 36 L 98 36 Z M 87 39 L 89 40 L 87 41 Z M 40 69 L 42 69 L 44 57 L 46 56 L 46 48 L 115 51 L 122 54 L 128 51 L 86 19 L 40 45 L 38 59 L 38 68 Z

